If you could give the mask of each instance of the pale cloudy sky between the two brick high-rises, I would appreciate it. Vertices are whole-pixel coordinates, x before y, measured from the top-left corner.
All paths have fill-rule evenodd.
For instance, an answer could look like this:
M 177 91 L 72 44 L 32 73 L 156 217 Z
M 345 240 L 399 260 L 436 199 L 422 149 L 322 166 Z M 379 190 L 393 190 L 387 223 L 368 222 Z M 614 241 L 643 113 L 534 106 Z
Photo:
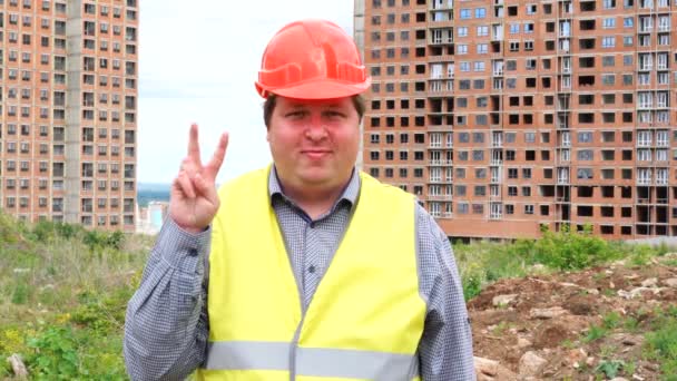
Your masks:
M 246 6 L 245 6 L 246 3 Z M 328 19 L 353 32 L 353 0 L 145 0 L 139 26 L 139 183 L 171 183 L 199 126 L 203 162 L 230 136 L 216 179 L 271 162 L 254 88 L 267 41 L 286 23 Z

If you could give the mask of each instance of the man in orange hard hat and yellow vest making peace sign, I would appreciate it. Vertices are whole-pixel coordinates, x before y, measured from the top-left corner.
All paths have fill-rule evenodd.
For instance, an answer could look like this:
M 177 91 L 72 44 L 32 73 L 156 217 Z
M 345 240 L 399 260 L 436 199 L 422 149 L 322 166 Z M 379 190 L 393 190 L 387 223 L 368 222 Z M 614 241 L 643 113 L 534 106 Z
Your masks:
M 131 378 L 474 379 L 449 241 L 413 196 L 354 168 L 370 78 L 352 39 L 293 22 L 258 79 L 274 163 L 217 193 L 227 135 L 203 165 L 192 126 L 129 302 Z

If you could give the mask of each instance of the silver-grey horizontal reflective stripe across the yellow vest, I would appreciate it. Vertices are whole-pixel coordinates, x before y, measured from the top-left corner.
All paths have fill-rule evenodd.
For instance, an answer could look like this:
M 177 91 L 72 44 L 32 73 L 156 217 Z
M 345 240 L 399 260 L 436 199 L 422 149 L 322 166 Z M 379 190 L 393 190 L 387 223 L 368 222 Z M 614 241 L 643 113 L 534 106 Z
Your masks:
M 205 363 L 208 370 L 288 370 L 291 343 L 213 342 Z M 343 349 L 303 348 L 296 350 L 298 375 L 401 380 L 418 374 L 414 355 Z

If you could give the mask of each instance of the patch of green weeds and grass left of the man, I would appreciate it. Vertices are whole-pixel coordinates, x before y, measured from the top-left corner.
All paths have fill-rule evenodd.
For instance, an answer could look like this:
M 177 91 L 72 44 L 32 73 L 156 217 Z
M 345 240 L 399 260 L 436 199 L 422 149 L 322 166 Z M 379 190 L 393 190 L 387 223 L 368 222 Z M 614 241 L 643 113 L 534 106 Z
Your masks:
M 0 379 L 126 379 L 121 332 L 150 240 L 0 213 Z

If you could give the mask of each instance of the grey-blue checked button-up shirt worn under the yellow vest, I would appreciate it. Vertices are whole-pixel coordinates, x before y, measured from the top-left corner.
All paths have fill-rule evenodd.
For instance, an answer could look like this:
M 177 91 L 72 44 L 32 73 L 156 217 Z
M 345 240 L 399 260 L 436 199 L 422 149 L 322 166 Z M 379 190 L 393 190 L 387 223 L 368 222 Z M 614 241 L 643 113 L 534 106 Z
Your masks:
M 360 194 L 353 174 L 341 198 L 312 219 L 284 195 L 271 170 L 268 189 L 304 307 L 311 302 Z M 416 206 L 420 295 L 428 311 L 419 361 L 424 381 L 474 380 L 472 333 L 447 235 Z M 157 237 L 141 285 L 129 301 L 125 362 L 133 380 L 183 380 L 207 356 L 210 229 L 189 234 L 170 218 Z

